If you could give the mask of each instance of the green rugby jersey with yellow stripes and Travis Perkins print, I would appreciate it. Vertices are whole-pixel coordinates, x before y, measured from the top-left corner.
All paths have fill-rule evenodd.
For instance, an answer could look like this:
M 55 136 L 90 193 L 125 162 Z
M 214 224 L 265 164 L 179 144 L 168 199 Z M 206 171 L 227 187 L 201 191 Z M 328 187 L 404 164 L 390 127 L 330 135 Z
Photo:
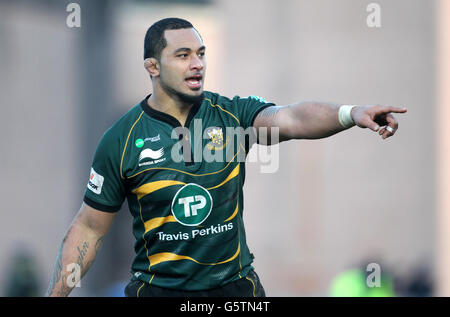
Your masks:
M 148 98 L 101 138 L 84 202 L 116 212 L 127 199 L 136 238 L 133 279 L 207 290 L 245 277 L 253 261 L 243 223 L 248 144 L 228 129 L 251 127 L 273 104 L 205 91 L 188 114 L 190 133 L 177 137 L 178 120 L 148 106 Z

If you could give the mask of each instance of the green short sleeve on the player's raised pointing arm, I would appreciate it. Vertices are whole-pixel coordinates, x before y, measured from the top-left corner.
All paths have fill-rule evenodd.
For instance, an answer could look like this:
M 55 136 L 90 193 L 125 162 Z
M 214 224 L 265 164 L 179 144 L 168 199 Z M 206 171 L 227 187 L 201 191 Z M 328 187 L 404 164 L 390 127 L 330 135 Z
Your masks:
M 264 98 L 258 96 L 234 97 L 233 101 L 236 103 L 240 125 L 244 129 L 253 126 L 253 122 L 260 111 L 275 106 L 274 103 L 267 102 Z

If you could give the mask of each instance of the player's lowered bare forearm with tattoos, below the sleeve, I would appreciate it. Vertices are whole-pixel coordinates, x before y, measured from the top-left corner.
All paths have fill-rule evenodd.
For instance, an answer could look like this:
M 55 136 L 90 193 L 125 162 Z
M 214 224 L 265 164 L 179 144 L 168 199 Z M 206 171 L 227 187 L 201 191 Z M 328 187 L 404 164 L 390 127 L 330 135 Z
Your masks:
M 79 282 L 76 270 L 80 277 L 89 270 L 116 214 L 83 203 L 61 242 L 46 296 L 69 295 Z

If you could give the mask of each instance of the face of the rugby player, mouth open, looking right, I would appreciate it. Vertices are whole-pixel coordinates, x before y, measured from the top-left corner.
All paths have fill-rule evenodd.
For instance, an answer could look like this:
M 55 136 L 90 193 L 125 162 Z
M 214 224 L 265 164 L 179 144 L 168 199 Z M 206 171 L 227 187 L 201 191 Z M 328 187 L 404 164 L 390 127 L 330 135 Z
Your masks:
M 161 52 L 160 82 L 169 95 L 193 102 L 203 94 L 205 46 L 194 29 L 166 30 Z

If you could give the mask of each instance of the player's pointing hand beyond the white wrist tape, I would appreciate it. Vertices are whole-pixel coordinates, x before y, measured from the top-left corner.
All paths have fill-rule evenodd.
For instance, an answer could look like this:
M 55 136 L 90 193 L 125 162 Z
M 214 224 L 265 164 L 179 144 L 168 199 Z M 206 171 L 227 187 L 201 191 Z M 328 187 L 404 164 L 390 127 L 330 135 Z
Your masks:
M 381 105 L 356 106 L 352 109 L 350 115 L 358 127 L 369 128 L 378 132 L 383 139 L 386 139 L 393 136 L 398 129 L 398 122 L 392 115 L 392 112 L 405 113 L 406 111 L 406 108 Z M 387 127 L 390 127 L 392 132 L 387 130 Z

